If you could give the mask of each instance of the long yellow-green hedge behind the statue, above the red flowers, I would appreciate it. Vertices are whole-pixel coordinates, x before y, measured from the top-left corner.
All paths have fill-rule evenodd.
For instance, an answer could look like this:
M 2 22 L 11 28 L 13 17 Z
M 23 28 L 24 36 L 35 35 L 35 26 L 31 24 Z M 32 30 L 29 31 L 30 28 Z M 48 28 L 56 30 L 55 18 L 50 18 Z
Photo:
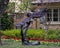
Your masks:
M 21 32 L 19 29 L 3 31 L 5 36 L 21 38 Z M 60 40 L 60 30 L 48 30 L 46 34 L 45 30 L 41 29 L 29 29 L 27 32 L 27 38 L 42 38 L 42 39 L 58 39 Z

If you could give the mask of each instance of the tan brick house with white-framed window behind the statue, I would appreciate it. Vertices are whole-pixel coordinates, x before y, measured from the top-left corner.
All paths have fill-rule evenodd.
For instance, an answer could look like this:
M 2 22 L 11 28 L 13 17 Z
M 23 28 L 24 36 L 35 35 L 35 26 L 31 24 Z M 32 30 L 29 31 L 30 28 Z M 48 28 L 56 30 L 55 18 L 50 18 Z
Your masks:
M 39 9 L 41 7 L 41 4 L 44 4 L 43 7 L 46 7 L 47 9 L 47 22 L 49 24 L 49 28 L 50 29 L 60 29 L 60 0 L 34 0 L 32 1 L 32 4 L 34 4 L 34 6 L 37 6 L 36 9 Z M 16 15 L 14 17 L 14 24 L 19 23 L 21 20 L 24 19 L 23 13 Z M 44 28 L 44 25 L 42 25 Z M 31 24 L 30 28 L 40 28 L 41 24 L 40 24 L 40 20 L 39 19 L 35 19 L 35 21 Z

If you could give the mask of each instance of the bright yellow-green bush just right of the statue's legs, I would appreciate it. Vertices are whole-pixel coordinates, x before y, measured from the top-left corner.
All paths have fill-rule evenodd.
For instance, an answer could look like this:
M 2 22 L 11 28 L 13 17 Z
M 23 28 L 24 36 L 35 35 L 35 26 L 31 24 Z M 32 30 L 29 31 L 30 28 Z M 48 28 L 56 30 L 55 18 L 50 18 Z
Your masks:
M 27 33 L 28 38 L 44 38 L 46 35 L 45 30 L 40 30 L 40 29 L 29 29 Z

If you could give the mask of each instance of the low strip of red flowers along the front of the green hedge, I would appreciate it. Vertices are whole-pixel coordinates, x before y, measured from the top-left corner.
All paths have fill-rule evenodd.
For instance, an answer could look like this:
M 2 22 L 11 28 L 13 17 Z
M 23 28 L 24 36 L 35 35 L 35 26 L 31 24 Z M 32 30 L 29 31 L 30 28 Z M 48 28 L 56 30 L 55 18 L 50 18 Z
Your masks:
M 2 36 L 1 37 L 2 39 L 12 39 L 12 40 L 21 40 L 21 38 L 11 38 L 11 37 L 8 37 L 8 36 Z M 60 40 L 47 40 L 47 39 L 40 39 L 40 38 L 28 38 L 28 40 L 33 40 L 33 41 L 44 41 L 44 42 L 60 42 Z

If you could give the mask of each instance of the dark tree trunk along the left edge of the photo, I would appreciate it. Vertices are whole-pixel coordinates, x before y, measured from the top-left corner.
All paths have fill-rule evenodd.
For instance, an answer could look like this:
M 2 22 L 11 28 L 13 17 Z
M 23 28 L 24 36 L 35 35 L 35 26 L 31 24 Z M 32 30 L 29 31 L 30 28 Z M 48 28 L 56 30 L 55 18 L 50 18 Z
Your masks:
M 3 17 L 3 13 L 5 13 L 6 7 L 8 5 L 9 0 L 0 0 L 0 30 L 2 29 L 1 19 Z M 2 45 L 1 42 L 1 31 L 0 31 L 0 45 Z

